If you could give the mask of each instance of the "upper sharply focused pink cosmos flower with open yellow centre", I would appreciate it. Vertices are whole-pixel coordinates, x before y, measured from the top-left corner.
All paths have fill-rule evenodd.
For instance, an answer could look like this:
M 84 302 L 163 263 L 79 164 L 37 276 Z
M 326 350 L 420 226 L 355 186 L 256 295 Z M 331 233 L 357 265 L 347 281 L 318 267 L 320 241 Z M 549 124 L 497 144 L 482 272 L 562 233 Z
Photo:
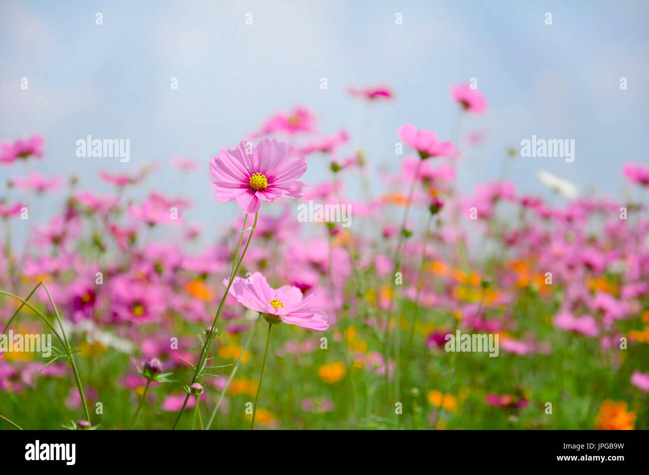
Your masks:
M 210 170 L 218 181 L 210 183 L 220 201 L 236 200 L 244 213 L 259 211 L 261 201 L 279 197 L 299 198 L 308 186 L 296 178 L 306 171 L 306 158 L 288 159 L 286 142 L 263 138 L 251 150 L 241 141 L 236 149 L 221 149 L 212 158 Z

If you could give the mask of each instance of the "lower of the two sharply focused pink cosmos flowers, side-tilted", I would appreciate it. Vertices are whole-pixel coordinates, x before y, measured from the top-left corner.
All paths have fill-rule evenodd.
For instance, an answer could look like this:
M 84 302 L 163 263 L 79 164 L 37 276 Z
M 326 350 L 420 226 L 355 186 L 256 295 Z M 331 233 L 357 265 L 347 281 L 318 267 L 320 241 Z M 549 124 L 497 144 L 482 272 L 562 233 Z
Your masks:
M 278 322 L 301 326 L 308 330 L 329 328 L 326 313 L 317 308 L 310 308 L 317 296 L 303 298 L 302 291 L 293 286 L 272 289 L 261 273 L 254 273 L 249 279 L 234 278 L 230 295 L 236 297 L 245 308 L 275 316 Z

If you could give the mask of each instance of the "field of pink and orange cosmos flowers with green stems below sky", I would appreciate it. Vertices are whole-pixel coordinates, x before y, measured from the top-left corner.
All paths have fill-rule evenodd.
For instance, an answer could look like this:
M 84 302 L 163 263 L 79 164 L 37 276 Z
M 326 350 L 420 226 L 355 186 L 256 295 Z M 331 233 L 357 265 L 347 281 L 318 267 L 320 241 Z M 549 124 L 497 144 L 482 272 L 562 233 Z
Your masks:
M 398 100 L 349 97 L 374 120 Z M 453 130 L 402 125 L 387 172 L 304 105 L 211 160 L 158 164 L 209 169 L 202 206 L 237 208 L 214 242 L 155 165 L 100 171 L 100 194 L 40 173 L 47 137 L 3 143 L 0 324 L 53 348 L 5 339 L 0 428 L 649 428 L 649 167 L 620 162 L 624 199 L 545 173 L 543 199 L 508 180 L 512 149 L 461 190 L 482 140 L 461 119 L 489 103 L 468 84 L 448 100 Z M 302 182 L 312 162 L 330 173 Z M 53 190 L 66 199 L 32 225 Z M 461 334 L 497 346 L 448 345 Z

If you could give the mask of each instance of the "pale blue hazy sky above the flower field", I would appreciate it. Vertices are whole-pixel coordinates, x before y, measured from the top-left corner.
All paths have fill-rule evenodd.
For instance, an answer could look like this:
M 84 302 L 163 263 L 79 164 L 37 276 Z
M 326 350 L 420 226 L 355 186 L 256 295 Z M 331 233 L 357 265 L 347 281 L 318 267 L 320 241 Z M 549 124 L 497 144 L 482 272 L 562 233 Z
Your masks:
M 103 14 L 103 25 L 95 14 Z M 245 15 L 252 14 L 252 25 Z M 403 17 L 395 25 L 395 14 Z M 545 24 L 546 12 L 552 25 Z M 126 171 L 181 154 L 205 173 L 181 183 L 168 165 L 148 188 L 190 195 L 193 216 L 214 223 L 207 164 L 264 117 L 311 104 L 321 128 L 341 127 L 361 145 L 361 103 L 349 85 L 387 83 L 397 101 L 373 112 L 365 144 L 376 173 L 395 171 L 396 130 L 411 122 L 448 139 L 456 108 L 448 88 L 478 79 L 489 112 L 463 132 L 484 130 L 461 185 L 495 178 L 506 147 L 568 138 L 575 160 L 519 158 L 510 177 L 546 193 L 539 168 L 620 196 L 620 165 L 649 163 L 649 4 L 643 1 L 32 1 L 0 2 L 0 140 L 46 138 L 45 174 L 77 173 L 82 187 L 108 190 L 99 169 Z M 21 77 L 29 90 L 21 91 Z M 178 90 L 169 88 L 178 78 Z M 321 77 L 328 89 L 320 88 Z M 628 90 L 620 90 L 620 77 Z M 75 141 L 129 138 L 131 160 L 83 160 Z M 304 180 L 319 182 L 310 161 Z M 0 167 L 0 178 L 21 170 Z M 348 182 L 352 189 L 358 185 Z M 45 216 L 47 202 L 43 203 Z

